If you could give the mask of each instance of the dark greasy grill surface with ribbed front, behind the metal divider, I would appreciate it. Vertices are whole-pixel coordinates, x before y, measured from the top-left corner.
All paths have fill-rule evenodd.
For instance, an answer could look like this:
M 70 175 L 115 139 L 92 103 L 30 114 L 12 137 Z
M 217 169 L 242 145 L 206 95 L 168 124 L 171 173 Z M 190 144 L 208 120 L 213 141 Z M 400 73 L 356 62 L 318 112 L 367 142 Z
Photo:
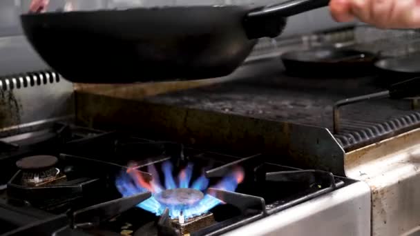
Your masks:
M 385 77 L 375 72 L 360 77 L 292 76 L 280 59 L 260 61 L 249 67 L 254 68 L 249 77 L 149 97 L 146 101 L 328 128 L 346 151 L 420 127 L 417 99 L 376 99 L 341 107 L 341 129 L 333 131 L 333 108 L 337 101 L 380 92 L 407 78 Z

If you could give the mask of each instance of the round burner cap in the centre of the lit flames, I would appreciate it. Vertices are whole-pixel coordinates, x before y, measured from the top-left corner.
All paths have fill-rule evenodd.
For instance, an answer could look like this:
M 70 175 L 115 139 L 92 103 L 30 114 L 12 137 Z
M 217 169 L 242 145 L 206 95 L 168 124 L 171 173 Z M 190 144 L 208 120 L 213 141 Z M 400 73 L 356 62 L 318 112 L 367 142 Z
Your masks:
M 193 188 L 173 188 L 155 195 L 155 199 L 165 206 L 192 206 L 203 197 L 200 190 Z

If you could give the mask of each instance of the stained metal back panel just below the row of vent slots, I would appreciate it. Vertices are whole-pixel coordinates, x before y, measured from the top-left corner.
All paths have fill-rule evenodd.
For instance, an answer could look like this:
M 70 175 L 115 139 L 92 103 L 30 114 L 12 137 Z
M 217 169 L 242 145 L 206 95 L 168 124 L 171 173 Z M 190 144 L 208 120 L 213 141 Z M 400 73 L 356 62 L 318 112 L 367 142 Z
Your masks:
M 64 79 L 44 83 L 39 81 L 41 77 L 42 74 L 39 74 L 37 79 L 30 80 L 35 83 L 34 86 L 21 88 L 17 88 L 21 83 L 15 83 L 19 77 L 0 80 L 5 84 L 0 84 L 0 88 L 3 88 L 0 90 L 0 130 L 19 130 L 19 126 L 25 124 L 74 116 L 73 85 Z

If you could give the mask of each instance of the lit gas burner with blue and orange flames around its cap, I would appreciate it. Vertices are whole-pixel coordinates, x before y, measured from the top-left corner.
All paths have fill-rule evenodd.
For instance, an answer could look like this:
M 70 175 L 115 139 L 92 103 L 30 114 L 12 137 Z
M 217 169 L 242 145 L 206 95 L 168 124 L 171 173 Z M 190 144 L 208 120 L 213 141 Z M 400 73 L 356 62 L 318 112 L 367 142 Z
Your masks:
M 209 186 L 235 191 L 245 176 L 244 170 L 235 166 L 228 168 L 230 172 L 227 172 L 227 175 L 222 175 L 221 179 L 210 185 L 204 173 L 200 176 L 193 175 L 193 163 L 189 163 L 178 171 L 178 181 L 175 181 L 172 162 L 166 160 L 159 163 L 164 174 L 163 186 L 154 165 L 147 166 L 153 176 L 151 181 L 144 179 L 142 171 L 131 167 L 117 176 L 115 186 L 124 197 L 150 191 L 153 197 L 139 204 L 139 207 L 156 215 L 162 215 L 164 210 L 168 209 L 169 217 L 178 219 L 181 224 L 184 224 L 186 219 L 208 213 L 212 208 L 222 204 L 217 197 L 206 194 Z

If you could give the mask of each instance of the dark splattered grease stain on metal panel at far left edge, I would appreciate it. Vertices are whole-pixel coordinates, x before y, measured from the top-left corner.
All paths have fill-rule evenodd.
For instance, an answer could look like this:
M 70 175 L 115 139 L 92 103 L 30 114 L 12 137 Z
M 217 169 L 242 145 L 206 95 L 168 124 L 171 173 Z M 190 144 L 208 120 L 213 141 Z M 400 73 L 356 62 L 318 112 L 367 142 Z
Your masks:
M 12 91 L 0 90 L 0 128 L 15 126 L 21 121 L 21 104 Z

